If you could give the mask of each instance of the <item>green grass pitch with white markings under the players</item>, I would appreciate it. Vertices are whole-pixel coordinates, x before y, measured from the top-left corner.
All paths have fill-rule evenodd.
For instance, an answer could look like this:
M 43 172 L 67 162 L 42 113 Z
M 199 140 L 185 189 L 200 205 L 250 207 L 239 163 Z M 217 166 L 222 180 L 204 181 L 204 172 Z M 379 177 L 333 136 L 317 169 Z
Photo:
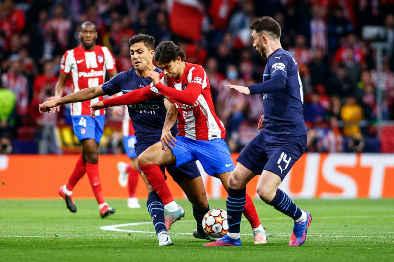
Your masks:
M 255 200 L 268 244 L 254 245 L 251 227 L 242 221 L 242 247 L 202 247 L 191 235 L 191 204 L 179 200 L 185 219 L 170 230 L 174 246 L 159 247 L 146 208 L 128 209 L 126 200 L 108 200 L 116 208 L 101 219 L 94 200 L 76 199 L 78 212 L 59 200 L 0 200 L 0 261 L 394 261 L 394 199 L 296 200 L 313 221 L 301 247 L 289 247 L 293 223 L 271 206 Z M 210 200 L 224 208 L 225 200 Z M 140 201 L 143 204 L 143 201 Z M 133 232 L 134 231 L 134 232 Z M 141 232 L 135 232 L 141 231 Z M 179 233 L 179 234 L 175 234 Z

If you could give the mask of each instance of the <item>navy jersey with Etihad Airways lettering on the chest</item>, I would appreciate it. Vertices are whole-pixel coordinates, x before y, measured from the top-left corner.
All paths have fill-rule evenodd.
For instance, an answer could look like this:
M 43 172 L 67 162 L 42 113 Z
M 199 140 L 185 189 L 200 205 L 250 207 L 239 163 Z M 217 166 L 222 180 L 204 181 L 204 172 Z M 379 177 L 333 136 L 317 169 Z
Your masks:
M 162 72 L 159 68 L 156 68 L 155 71 Z M 120 91 L 125 94 L 132 90 L 145 87 L 151 82 L 149 77 L 139 77 L 135 72 L 135 68 L 131 68 L 126 72 L 118 73 L 104 83 L 102 90 L 108 95 L 114 95 Z M 155 97 L 141 103 L 130 104 L 127 105 L 127 108 L 134 126 L 137 141 L 139 142 L 144 138 L 157 138 L 159 141 L 162 135 L 165 114 L 167 113 L 163 97 Z M 177 124 L 172 127 L 171 131 L 174 135 L 178 133 Z

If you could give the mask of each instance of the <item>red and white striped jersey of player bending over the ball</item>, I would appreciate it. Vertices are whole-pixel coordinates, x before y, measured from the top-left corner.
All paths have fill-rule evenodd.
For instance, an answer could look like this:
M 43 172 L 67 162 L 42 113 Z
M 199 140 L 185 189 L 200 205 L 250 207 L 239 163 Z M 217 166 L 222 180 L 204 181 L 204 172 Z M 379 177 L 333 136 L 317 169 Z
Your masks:
M 222 121 L 216 116 L 212 102 L 211 87 L 209 79 L 202 66 L 186 63 L 182 77 L 177 81 L 173 78 L 164 80 L 164 73 L 160 74 L 160 82 L 168 87 L 187 93 L 187 88 L 200 88 L 197 100 L 193 105 L 183 104 L 176 101 L 176 95 L 169 95 L 168 98 L 175 103 L 178 109 L 178 130 L 179 136 L 185 136 L 197 140 L 211 140 L 215 138 L 225 138 L 226 131 Z M 151 90 L 156 87 L 151 84 Z M 159 88 L 160 89 L 160 88 Z M 164 90 L 156 92 L 167 95 Z M 197 92 L 196 89 L 194 93 Z M 171 97 L 172 96 L 172 97 Z

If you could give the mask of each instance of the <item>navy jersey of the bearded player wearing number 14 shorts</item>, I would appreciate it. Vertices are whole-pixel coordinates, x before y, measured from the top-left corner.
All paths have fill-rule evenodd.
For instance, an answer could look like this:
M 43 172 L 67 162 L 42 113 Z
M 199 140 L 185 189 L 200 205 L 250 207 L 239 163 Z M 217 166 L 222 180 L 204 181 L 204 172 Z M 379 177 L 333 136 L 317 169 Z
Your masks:
M 302 82 L 296 59 L 278 49 L 268 57 L 263 82 L 280 74 L 286 78 L 284 89 L 263 93 L 263 130 L 276 136 L 306 135 Z

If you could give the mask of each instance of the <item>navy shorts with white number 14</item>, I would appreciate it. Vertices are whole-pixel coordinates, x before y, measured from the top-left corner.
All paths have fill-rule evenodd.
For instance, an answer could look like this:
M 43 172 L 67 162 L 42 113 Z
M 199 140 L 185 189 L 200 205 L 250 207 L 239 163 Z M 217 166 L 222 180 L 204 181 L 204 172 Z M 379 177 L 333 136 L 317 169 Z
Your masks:
M 237 161 L 256 174 L 269 170 L 283 180 L 305 147 L 306 135 L 280 137 L 261 131 L 245 146 Z

